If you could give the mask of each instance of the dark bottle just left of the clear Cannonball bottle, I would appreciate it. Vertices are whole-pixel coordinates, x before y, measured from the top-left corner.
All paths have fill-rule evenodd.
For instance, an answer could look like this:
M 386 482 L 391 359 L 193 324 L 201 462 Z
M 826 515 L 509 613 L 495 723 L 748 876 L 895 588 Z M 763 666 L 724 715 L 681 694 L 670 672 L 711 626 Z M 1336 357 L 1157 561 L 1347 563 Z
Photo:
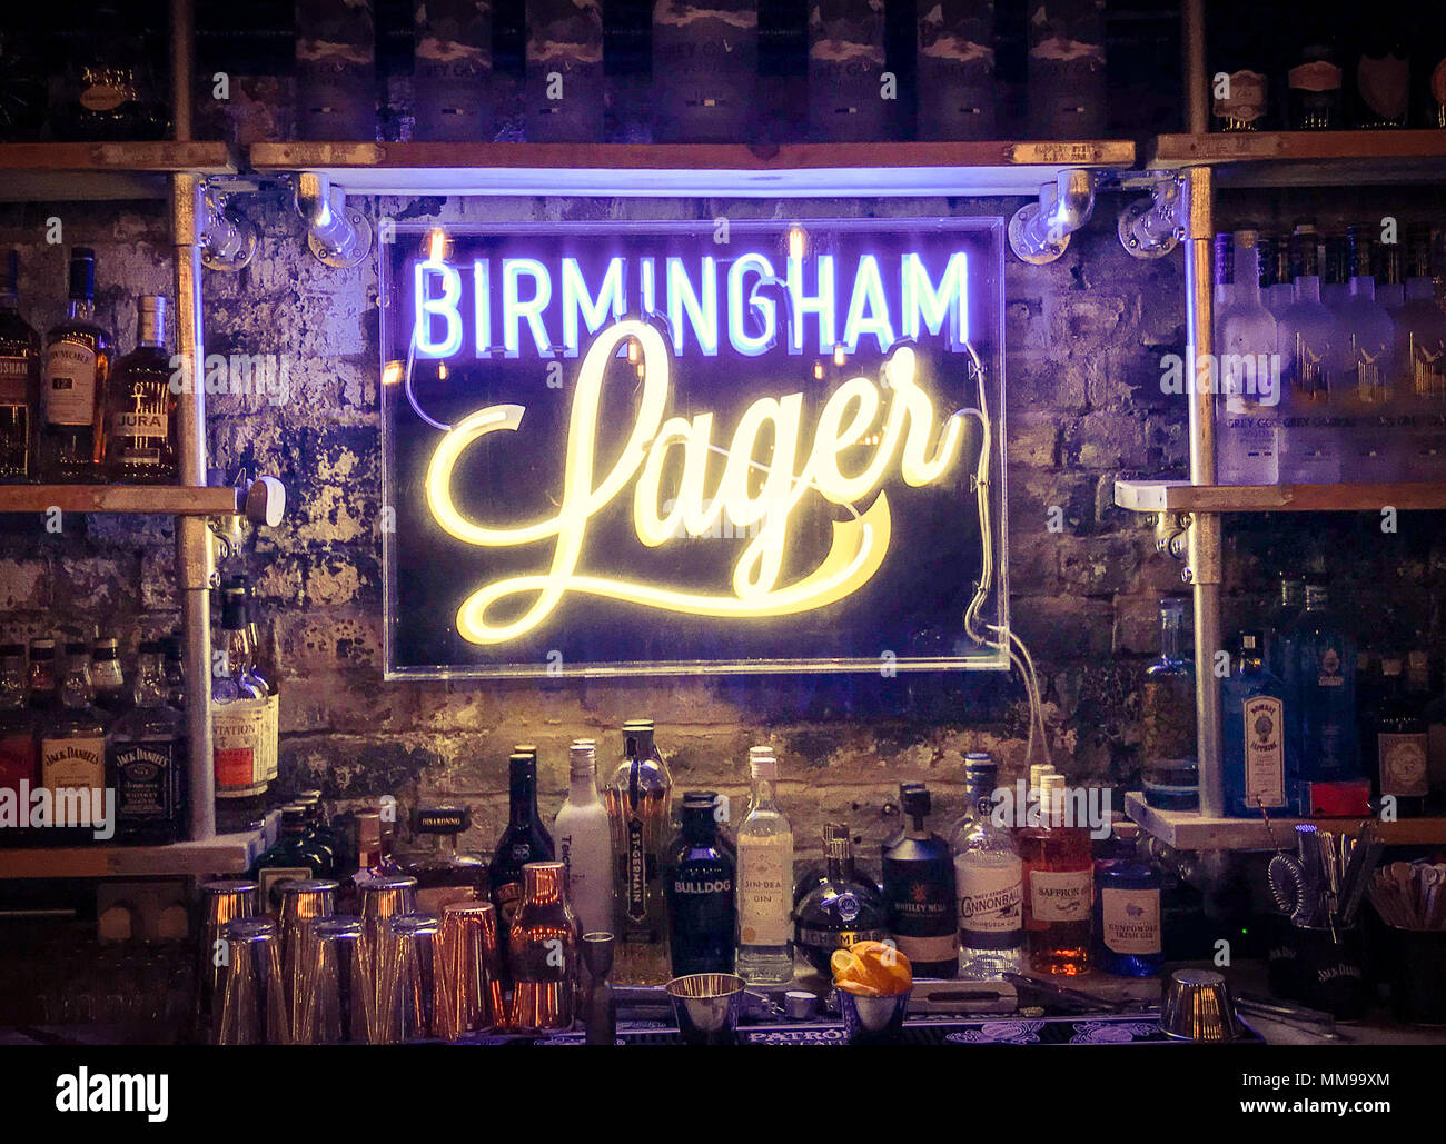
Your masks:
M 884 855 L 889 933 L 914 976 L 951 978 L 959 972 L 959 903 L 949 842 L 924 825 L 930 797 L 923 783 L 901 792 L 899 803 L 908 825 Z

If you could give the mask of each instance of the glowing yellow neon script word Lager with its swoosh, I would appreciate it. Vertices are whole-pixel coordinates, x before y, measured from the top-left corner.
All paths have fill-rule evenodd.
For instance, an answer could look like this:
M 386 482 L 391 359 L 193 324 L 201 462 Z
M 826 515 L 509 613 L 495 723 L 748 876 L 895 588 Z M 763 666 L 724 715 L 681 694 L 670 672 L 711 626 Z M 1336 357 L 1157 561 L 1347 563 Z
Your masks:
M 642 394 L 636 422 L 612 469 L 593 484 L 599 403 L 607 364 L 629 341 L 642 347 Z M 936 436 L 934 407 L 914 380 L 914 351 L 899 347 L 885 364 L 891 400 L 884 425 L 875 430 L 882 399 L 865 377 L 844 381 L 830 396 L 818 417 L 813 449 L 798 469 L 798 436 L 803 394 L 763 397 L 745 410 L 719 487 L 707 497 L 707 458 L 713 415 L 668 417 L 671 360 L 662 335 L 646 322 L 623 321 L 604 329 L 583 360 L 568 422 L 562 498 L 557 516 L 518 527 L 496 529 L 467 520 L 451 497 L 453 469 L 473 442 L 497 430 L 516 430 L 523 407 L 489 406 L 469 415 L 442 438 L 427 471 L 427 503 L 451 536 L 480 547 L 516 547 L 555 539 L 545 572 L 508 576 L 473 592 L 457 611 L 457 631 L 479 644 L 505 643 L 526 634 L 557 608 L 567 592 L 586 592 L 648 608 L 714 617 L 792 615 L 843 599 L 866 584 L 888 552 L 892 519 L 881 491 L 873 504 L 852 520 L 833 523 L 833 540 L 820 565 L 792 584 L 778 584 L 788 546 L 788 521 L 810 490 L 833 504 L 853 506 L 882 482 L 899 455 L 905 484 L 930 484 L 954 464 L 963 441 L 963 413 L 954 413 Z M 875 435 L 876 436 L 870 436 Z M 846 475 L 840 455 L 876 441 L 863 471 Z M 759 438 L 772 441 L 771 454 L 759 458 Z M 667 516 L 659 516 L 662 474 L 669 451 L 683 451 L 683 475 Z M 753 474 L 762 472 L 758 484 Z M 726 514 L 740 527 L 758 526 L 733 568 L 732 595 L 707 595 L 638 581 L 589 576 L 577 571 L 589 520 L 613 501 L 636 477 L 633 530 L 648 547 L 683 533 L 707 534 Z M 534 597 L 516 618 L 495 621 L 489 612 L 509 597 Z

